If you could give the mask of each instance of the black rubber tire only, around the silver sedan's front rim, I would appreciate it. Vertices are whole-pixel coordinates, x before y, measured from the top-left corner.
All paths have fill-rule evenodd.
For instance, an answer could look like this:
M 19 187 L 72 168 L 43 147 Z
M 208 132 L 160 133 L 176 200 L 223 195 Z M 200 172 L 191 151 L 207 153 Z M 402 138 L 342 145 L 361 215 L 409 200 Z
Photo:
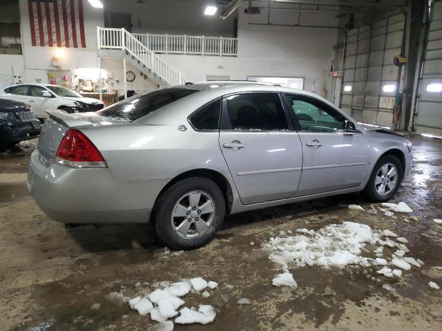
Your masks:
M 376 184 L 375 184 L 376 183 L 376 175 L 381 170 L 381 168 L 384 165 L 387 165 L 388 163 L 390 163 L 396 167 L 396 170 L 397 170 L 396 185 L 394 186 L 394 189 L 390 190 L 390 192 L 388 192 L 385 195 L 381 195 L 376 190 Z M 372 201 L 372 202 L 388 201 L 388 200 L 392 199 L 394 194 L 396 194 L 399 186 L 401 185 L 402 179 L 403 179 L 403 167 L 402 167 L 401 161 L 398 159 L 398 157 L 396 157 L 392 154 L 384 155 L 383 157 L 381 157 L 381 159 L 379 159 L 376 162 L 376 165 L 374 165 L 373 172 L 370 175 L 367 185 L 365 185 L 365 188 L 363 190 L 363 194 L 365 195 L 365 197 L 369 201 Z

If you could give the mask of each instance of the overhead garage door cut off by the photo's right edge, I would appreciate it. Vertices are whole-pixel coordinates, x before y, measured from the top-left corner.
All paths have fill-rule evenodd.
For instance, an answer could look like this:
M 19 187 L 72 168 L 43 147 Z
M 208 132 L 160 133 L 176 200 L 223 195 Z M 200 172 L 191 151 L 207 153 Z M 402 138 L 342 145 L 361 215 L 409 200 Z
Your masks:
M 414 129 L 442 136 L 442 1 L 436 1 L 432 8 Z

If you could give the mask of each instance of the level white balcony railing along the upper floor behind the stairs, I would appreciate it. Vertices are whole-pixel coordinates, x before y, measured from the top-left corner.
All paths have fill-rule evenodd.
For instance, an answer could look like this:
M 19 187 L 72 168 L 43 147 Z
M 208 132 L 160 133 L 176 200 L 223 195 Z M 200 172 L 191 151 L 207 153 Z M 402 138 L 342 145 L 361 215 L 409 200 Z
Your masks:
M 238 38 L 188 36 L 186 34 L 133 33 L 149 50 L 157 53 L 233 56 Z

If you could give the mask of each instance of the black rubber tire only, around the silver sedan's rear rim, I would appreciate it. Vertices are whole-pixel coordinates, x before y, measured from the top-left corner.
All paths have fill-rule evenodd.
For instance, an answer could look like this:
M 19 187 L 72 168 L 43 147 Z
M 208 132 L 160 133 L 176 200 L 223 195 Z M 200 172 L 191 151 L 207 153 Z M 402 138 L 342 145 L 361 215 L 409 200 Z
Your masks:
M 175 204 L 179 202 L 180 198 L 193 191 L 201 191 L 204 194 L 208 194 L 211 197 L 215 208 L 211 223 L 205 232 L 200 234 L 199 237 L 186 239 L 180 237 L 180 235 L 175 232 L 172 225 L 172 213 Z M 224 195 L 216 183 L 204 177 L 182 179 L 165 190 L 155 203 L 155 208 L 153 210 L 155 232 L 162 243 L 174 250 L 192 250 L 194 248 L 199 248 L 206 245 L 206 243 L 209 243 L 209 241 L 215 236 L 216 232 L 218 232 L 224 221 L 225 210 L 226 203 Z M 184 217 L 184 221 L 186 219 L 187 217 Z M 178 222 L 180 222 L 179 218 Z

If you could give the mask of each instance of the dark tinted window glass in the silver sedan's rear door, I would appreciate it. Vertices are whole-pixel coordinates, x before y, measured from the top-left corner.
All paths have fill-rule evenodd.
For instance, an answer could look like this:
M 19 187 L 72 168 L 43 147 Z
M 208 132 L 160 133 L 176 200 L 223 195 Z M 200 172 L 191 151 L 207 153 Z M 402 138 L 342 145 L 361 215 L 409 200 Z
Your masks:
M 224 130 L 288 130 L 287 119 L 277 93 L 243 93 L 227 97 Z

